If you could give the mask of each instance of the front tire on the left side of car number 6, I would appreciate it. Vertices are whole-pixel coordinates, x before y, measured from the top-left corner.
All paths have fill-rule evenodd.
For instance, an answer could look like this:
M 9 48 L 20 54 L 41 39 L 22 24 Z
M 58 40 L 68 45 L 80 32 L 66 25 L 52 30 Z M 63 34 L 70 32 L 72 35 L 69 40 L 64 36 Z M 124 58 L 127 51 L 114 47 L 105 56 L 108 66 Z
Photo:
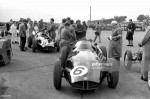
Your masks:
M 57 60 L 54 65 L 54 72 L 53 72 L 53 83 L 54 87 L 57 90 L 61 89 L 62 83 L 62 68 L 61 68 L 61 61 Z

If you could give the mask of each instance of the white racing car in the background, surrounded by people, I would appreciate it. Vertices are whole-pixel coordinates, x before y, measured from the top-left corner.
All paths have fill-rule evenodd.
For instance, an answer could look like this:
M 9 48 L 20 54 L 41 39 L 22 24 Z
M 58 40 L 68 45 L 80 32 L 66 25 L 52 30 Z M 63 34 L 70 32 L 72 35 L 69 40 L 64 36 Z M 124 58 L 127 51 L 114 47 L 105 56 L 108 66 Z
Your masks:
M 37 49 L 41 51 L 42 50 L 48 50 L 48 51 L 55 50 L 57 52 L 60 51 L 58 41 L 53 40 L 46 33 L 42 33 L 42 32 L 36 33 L 33 37 L 32 51 L 36 52 Z

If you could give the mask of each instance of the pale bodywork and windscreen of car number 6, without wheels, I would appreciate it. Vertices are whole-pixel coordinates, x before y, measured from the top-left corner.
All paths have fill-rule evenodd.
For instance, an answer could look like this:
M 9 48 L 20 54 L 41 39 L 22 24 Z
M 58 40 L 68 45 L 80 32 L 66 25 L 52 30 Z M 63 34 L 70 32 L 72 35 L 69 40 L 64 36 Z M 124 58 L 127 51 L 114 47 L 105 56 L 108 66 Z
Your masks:
M 71 83 L 82 81 L 100 83 L 100 72 L 109 71 L 111 64 L 98 57 L 89 41 L 79 41 L 73 49 L 77 54 L 68 59 L 73 64 L 73 69 L 69 71 Z

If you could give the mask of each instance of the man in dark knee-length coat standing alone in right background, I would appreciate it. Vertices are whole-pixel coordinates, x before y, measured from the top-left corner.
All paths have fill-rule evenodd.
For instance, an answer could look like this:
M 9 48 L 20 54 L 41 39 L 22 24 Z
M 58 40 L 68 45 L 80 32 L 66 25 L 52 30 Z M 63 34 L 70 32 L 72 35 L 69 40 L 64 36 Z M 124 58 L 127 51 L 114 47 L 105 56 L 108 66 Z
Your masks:
M 136 29 L 135 24 L 132 22 L 132 19 L 130 19 L 129 24 L 127 26 L 127 35 L 126 35 L 126 39 L 129 42 L 127 46 L 133 46 L 133 34 L 135 29 Z

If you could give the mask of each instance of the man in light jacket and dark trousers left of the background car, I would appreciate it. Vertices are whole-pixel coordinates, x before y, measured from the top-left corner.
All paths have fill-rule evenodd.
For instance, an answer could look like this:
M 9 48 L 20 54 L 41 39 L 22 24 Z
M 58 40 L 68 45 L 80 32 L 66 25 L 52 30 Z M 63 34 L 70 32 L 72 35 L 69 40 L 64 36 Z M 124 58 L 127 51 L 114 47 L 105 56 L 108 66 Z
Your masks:
M 25 27 L 25 20 L 21 20 L 21 24 L 19 25 L 19 36 L 20 36 L 20 51 L 25 50 L 26 44 L 26 27 Z

